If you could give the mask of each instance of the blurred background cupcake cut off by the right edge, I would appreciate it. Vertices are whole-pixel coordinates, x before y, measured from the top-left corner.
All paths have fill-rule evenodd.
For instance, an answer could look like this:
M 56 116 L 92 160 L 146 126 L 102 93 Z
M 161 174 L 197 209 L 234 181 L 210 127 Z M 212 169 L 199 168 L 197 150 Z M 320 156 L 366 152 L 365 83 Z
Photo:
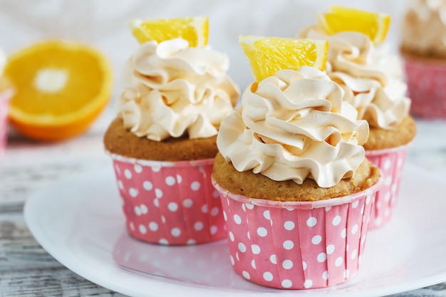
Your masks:
M 444 0 L 411 0 L 403 18 L 400 53 L 418 118 L 446 118 L 445 9 Z

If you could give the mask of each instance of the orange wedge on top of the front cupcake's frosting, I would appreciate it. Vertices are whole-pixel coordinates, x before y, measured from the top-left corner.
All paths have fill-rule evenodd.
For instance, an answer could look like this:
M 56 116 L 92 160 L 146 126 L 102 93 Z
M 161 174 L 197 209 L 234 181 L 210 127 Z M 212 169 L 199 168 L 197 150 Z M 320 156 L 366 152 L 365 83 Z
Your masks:
M 305 38 L 239 36 L 257 82 L 282 69 L 312 66 L 324 70 L 328 41 Z

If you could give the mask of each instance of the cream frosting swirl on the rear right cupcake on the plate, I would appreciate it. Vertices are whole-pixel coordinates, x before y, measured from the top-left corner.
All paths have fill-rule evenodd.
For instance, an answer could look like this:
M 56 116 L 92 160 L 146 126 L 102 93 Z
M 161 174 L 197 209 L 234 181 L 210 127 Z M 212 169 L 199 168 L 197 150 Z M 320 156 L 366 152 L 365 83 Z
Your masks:
M 356 32 L 326 35 L 320 26 L 299 33 L 304 38 L 328 40 L 326 73 L 346 90 L 346 98 L 358 110 L 358 118 L 370 127 L 393 129 L 409 114 L 403 68 L 389 46 Z

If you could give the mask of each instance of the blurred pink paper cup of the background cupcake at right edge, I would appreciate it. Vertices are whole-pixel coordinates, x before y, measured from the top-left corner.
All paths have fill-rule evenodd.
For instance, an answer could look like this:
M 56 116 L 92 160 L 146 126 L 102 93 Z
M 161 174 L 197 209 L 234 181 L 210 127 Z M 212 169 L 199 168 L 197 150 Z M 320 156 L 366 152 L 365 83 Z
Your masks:
M 446 118 L 446 63 L 405 58 L 410 113 L 418 118 Z

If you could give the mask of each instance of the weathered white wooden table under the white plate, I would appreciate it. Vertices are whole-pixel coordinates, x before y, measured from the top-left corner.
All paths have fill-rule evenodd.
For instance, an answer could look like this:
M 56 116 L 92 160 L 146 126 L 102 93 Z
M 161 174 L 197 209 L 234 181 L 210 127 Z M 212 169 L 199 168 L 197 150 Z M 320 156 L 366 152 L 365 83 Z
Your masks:
M 0 296 L 122 296 L 59 264 L 36 242 L 23 216 L 26 199 L 53 182 L 110 167 L 102 136 L 112 117 L 107 110 L 84 135 L 53 144 L 10 132 L 0 161 Z M 446 181 L 446 121 L 418 121 L 408 162 Z M 395 296 L 446 296 L 446 283 Z

